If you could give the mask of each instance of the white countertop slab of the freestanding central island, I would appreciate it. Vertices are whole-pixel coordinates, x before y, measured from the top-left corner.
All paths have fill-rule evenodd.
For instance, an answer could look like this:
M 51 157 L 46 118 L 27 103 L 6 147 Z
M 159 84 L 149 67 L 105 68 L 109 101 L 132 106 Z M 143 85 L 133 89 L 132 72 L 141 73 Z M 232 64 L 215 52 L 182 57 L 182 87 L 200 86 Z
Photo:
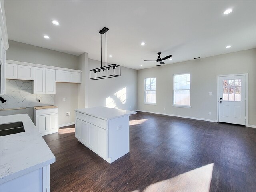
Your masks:
M 92 108 L 84 108 L 84 109 L 75 109 L 75 111 L 83 114 L 87 114 L 90 116 L 94 116 L 97 118 L 101 118 L 104 120 L 115 119 L 115 118 L 137 113 L 136 111 L 128 111 L 128 110 L 114 109 L 114 108 L 108 108 L 108 107 L 92 107 Z

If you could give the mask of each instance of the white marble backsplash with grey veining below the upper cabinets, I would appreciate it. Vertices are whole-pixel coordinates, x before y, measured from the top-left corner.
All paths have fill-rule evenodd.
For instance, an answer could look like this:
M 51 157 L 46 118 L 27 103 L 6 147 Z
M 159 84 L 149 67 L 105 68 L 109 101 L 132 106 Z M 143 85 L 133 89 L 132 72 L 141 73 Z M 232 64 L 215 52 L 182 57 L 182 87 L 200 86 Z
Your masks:
M 6 79 L 5 103 L 1 109 L 54 105 L 54 94 L 33 94 L 33 81 Z M 38 102 L 38 100 L 41 102 Z

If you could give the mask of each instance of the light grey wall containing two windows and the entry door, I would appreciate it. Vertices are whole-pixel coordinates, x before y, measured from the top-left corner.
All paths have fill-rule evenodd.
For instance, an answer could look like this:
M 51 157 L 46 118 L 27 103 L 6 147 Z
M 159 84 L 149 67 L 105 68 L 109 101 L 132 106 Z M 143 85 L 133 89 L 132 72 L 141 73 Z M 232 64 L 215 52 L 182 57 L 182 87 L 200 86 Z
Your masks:
M 179 73 L 190 73 L 191 108 L 172 106 L 172 78 Z M 138 70 L 138 110 L 217 120 L 217 76 L 240 73 L 248 73 L 248 121 L 255 126 L 256 49 Z M 156 77 L 156 105 L 144 104 L 146 77 Z

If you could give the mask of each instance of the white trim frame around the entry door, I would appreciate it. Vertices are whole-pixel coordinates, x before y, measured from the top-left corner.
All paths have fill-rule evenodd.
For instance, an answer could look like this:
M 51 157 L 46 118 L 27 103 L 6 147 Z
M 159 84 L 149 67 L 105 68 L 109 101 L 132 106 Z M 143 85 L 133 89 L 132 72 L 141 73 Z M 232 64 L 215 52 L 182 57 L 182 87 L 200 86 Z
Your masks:
M 241 74 L 229 74 L 229 75 L 218 75 L 217 76 L 217 122 L 219 122 L 219 79 L 220 77 L 226 76 L 238 76 L 238 75 L 245 75 L 245 126 L 248 127 L 248 73 L 241 73 Z

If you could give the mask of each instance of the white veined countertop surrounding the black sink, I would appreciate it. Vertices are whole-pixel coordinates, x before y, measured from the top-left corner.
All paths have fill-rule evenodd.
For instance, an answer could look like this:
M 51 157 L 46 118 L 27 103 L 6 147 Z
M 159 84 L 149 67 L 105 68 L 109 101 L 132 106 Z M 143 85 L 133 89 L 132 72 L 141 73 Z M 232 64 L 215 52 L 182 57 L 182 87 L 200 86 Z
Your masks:
M 25 132 L 0 137 L 0 183 L 55 162 L 28 114 L 0 116 L 0 124 L 22 121 Z

